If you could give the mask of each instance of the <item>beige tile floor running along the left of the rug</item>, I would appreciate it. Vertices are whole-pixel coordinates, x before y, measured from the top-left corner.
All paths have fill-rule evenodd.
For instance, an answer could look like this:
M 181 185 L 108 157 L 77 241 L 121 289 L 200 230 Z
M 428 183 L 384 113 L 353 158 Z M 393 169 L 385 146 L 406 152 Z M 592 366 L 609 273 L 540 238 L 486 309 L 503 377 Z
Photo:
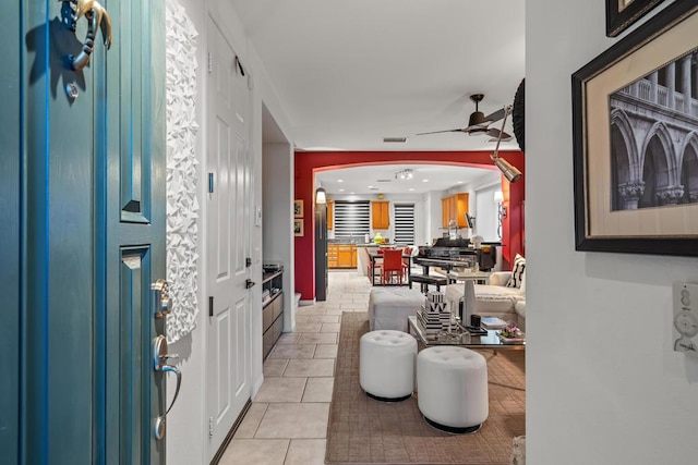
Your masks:
M 322 465 L 342 311 L 366 311 L 371 285 L 332 271 L 327 301 L 299 307 L 264 362 L 264 383 L 228 445 L 225 465 Z

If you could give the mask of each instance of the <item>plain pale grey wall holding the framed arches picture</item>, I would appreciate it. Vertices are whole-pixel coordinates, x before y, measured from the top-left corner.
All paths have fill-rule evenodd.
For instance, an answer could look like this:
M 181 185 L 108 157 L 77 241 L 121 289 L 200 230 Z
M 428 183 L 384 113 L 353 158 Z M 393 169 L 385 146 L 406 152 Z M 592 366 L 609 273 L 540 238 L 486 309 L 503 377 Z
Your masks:
M 570 75 L 604 2 L 526 2 L 527 448 L 534 465 L 698 463 L 698 358 L 673 352 L 698 259 L 574 247 Z

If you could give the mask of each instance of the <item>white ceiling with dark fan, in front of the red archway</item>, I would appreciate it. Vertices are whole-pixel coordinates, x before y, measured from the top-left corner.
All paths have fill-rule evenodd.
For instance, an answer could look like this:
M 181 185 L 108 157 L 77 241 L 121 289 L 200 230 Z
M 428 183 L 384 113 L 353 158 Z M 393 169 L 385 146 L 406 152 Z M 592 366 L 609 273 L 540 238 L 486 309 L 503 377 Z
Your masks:
M 297 149 L 492 150 L 485 135 L 414 134 L 467 126 L 472 94 L 485 114 L 510 105 L 524 78 L 522 0 L 230 1 Z

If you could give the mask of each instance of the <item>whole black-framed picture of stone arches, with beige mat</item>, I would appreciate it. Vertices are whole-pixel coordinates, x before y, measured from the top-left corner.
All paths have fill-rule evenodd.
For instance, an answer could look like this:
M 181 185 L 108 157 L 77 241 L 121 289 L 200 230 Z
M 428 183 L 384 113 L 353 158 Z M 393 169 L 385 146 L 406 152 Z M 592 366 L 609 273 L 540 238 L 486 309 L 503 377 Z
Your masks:
M 696 30 L 672 3 L 573 74 L 577 250 L 698 256 Z

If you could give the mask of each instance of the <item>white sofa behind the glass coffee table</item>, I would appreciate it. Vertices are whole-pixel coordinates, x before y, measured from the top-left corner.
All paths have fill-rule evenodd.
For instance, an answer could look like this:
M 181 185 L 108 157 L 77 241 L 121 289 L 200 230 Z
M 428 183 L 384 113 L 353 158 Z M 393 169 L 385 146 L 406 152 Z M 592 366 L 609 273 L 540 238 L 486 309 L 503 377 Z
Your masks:
M 498 317 L 504 321 L 514 321 L 526 330 L 526 276 L 520 287 L 507 287 L 510 271 L 495 271 L 490 276 L 490 284 L 476 284 L 477 315 Z M 458 308 L 462 302 L 465 284 L 448 284 L 445 298 L 450 308 Z

